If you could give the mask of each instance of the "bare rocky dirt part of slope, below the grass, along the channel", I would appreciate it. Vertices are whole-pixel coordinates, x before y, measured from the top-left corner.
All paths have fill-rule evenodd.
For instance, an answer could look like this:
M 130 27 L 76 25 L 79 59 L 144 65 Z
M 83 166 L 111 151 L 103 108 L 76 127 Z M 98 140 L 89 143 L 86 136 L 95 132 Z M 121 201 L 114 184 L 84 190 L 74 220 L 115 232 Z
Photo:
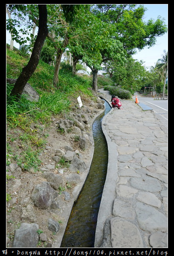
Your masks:
M 39 158 L 39 172 L 23 170 L 14 161 L 7 166 L 6 247 L 60 247 L 66 224 L 78 194 L 88 175 L 94 142 L 92 123 L 104 111 L 100 98 L 96 102 L 82 98 L 72 107 L 68 118 L 53 117 L 49 134 Z M 7 136 L 14 130 L 8 130 Z M 18 139 L 10 142 L 20 154 Z M 62 164 L 61 164 L 62 163 Z M 27 237 L 27 239 L 26 239 Z

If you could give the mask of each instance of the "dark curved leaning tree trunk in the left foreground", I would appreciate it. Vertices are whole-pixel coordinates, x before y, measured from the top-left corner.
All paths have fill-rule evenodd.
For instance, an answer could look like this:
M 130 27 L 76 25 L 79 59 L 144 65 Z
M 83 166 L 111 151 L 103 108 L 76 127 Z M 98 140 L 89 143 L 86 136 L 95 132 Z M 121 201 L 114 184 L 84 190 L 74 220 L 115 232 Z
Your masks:
M 45 38 L 48 34 L 47 28 L 47 5 L 46 4 L 38 4 L 39 8 L 39 30 L 37 34 L 37 38 L 33 47 L 33 51 L 31 54 L 31 58 L 27 66 L 22 69 L 22 73 L 16 80 L 14 88 L 12 89 L 11 94 L 16 95 L 18 98 L 21 97 L 25 84 L 37 68 L 39 63 L 39 58 L 41 54 L 41 49 Z

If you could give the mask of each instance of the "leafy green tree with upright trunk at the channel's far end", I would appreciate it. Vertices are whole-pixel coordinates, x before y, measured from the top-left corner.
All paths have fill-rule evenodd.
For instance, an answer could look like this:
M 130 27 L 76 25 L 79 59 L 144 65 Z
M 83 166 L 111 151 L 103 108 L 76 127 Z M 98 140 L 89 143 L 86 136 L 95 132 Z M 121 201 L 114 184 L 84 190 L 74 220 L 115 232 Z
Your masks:
M 70 48 L 75 62 L 82 59 L 92 70 L 92 89 L 97 92 L 98 70 L 102 69 L 103 63 L 111 59 L 123 62 L 123 45 L 119 40 L 113 38 L 110 24 L 101 21 L 90 12 L 86 13 L 83 19 L 84 22 L 81 22 L 80 28 L 82 29 L 82 25 L 84 26 L 82 31 L 86 33 L 86 40 L 70 44 L 68 48 Z

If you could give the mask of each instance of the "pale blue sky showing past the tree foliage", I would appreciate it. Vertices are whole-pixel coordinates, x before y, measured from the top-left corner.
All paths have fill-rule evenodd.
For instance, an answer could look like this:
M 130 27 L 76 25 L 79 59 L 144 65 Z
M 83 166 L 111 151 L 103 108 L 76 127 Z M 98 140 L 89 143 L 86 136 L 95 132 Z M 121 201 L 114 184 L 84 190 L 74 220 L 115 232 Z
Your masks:
M 158 16 L 160 16 L 165 19 L 165 24 L 168 25 L 168 4 L 143 4 L 143 6 L 147 8 L 143 17 L 145 22 L 151 18 L 156 20 Z M 6 43 L 10 44 L 10 35 L 8 32 L 6 35 Z M 19 48 L 19 44 L 16 42 L 14 42 L 14 46 Z M 155 66 L 158 59 L 162 58 L 164 50 L 166 50 L 166 52 L 168 51 L 168 33 L 158 37 L 156 44 L 151 48 L 148 49 L 145 47 L 140 52 L 137 50 L 137 54 L 134 54 L 133 58 L 145 62 L 143 66 L 149 70 L 151 66 Z

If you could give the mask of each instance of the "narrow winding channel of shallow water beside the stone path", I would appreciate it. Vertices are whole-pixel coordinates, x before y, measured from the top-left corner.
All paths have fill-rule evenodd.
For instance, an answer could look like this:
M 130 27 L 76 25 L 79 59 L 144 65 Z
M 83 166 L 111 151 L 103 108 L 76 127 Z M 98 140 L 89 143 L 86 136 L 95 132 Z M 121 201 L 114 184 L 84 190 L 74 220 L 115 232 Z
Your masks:
M 74 203 L 61 247 L 94 247 L 97 216 L 106 180 L 108 146 L 102 132 L 102 119 L 111 107 L 105 101 L 105 111 L 92 125 L 94 155 L 86 182 Z

